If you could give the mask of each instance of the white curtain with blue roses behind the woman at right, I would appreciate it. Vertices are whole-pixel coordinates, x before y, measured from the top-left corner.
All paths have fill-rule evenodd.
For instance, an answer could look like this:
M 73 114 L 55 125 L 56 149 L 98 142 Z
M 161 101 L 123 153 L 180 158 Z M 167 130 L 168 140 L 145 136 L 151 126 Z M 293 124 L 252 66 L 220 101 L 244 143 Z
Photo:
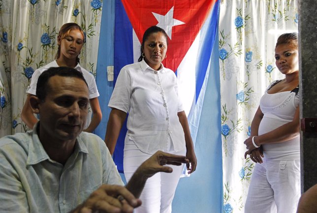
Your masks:
M 297 0 L 222 0 L 219 21 L 223 211 L 244 212 L 254 162 L 244 140 L 266 87 L 283 79 L 277 38 L 297 31 Z

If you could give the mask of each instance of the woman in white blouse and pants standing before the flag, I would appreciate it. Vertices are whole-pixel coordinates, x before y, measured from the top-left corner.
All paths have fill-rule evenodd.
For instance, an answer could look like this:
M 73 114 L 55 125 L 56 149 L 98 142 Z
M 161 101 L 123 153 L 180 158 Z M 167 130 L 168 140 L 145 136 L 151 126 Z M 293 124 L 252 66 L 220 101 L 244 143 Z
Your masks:
M 156 151 L 185 155 L 189 173 L 196 169 L 196 156 L 189 125 L 178 97 L 175 73 L 161 63 L 166 57 L 167 34 L 157 26 L 148 28 L 139 62 L 122 68 L 109 105 L 112 110 L 105 142 L 111 154 L 126 119 L 124 171 L 127 181 L 135 169 Z M 136 213 L 170 213 L 175 189 L 182 173 L 158 173 L 148 179 Z

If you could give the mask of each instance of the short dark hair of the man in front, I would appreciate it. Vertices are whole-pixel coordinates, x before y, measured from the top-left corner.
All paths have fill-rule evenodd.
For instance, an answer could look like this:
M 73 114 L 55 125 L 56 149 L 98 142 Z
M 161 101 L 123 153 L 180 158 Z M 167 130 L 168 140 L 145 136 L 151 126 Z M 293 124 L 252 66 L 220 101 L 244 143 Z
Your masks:
M 36 96 L 39 100 L 45 100 L 47 91 L 50 89 L 48 86 L 48 80 L 53 76 L 78 78 L 83 80 L 88 87 L 83 74 L 78 70 L 71 67 L 50 67 L 38 77 L 36 84 Z

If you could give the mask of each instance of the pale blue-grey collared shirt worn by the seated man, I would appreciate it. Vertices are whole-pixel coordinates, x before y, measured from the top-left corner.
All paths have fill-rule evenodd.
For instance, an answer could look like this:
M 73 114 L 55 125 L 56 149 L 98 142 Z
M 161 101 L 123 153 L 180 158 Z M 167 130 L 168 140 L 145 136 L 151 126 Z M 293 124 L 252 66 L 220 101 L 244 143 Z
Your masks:
M 1 213 L 67 213 L 102 184 L 123 185 L 101 138 L 81 133 L 62 165 L 45 152 L 37 125 L 0 139 Z

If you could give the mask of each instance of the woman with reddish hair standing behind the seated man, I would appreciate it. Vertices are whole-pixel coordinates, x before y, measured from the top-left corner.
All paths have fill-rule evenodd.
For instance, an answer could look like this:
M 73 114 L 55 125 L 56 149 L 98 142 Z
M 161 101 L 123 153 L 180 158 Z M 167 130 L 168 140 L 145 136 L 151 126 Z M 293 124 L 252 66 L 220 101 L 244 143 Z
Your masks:
M 80 71 L 89 86 L 89 103 L 93 112 L 93 117 L 90 118 L 85 126 L 85 132 L 93 132 L 101 121 L 102 114 L 98 101 L 98 89 L 95 83 L 94 76 L 79 65 L 78 55 L 84 45 L 84 32 L 76 23 L 64 24 L 58 35 L 58 52 L 56 60 L 51 63 L 35 70 L 32 74 L 31 84 L 27 90 L 28 96 L 21 112 L 22 121 L 27 124 L 29 128 L 33 128 L 37 122 L 37 118 L 33 115 L 32 109 L 29 106 L 29 99 L 32 95 L 36 94 L 36 83 L 38 77 L 50 67 L 72 67 Z

